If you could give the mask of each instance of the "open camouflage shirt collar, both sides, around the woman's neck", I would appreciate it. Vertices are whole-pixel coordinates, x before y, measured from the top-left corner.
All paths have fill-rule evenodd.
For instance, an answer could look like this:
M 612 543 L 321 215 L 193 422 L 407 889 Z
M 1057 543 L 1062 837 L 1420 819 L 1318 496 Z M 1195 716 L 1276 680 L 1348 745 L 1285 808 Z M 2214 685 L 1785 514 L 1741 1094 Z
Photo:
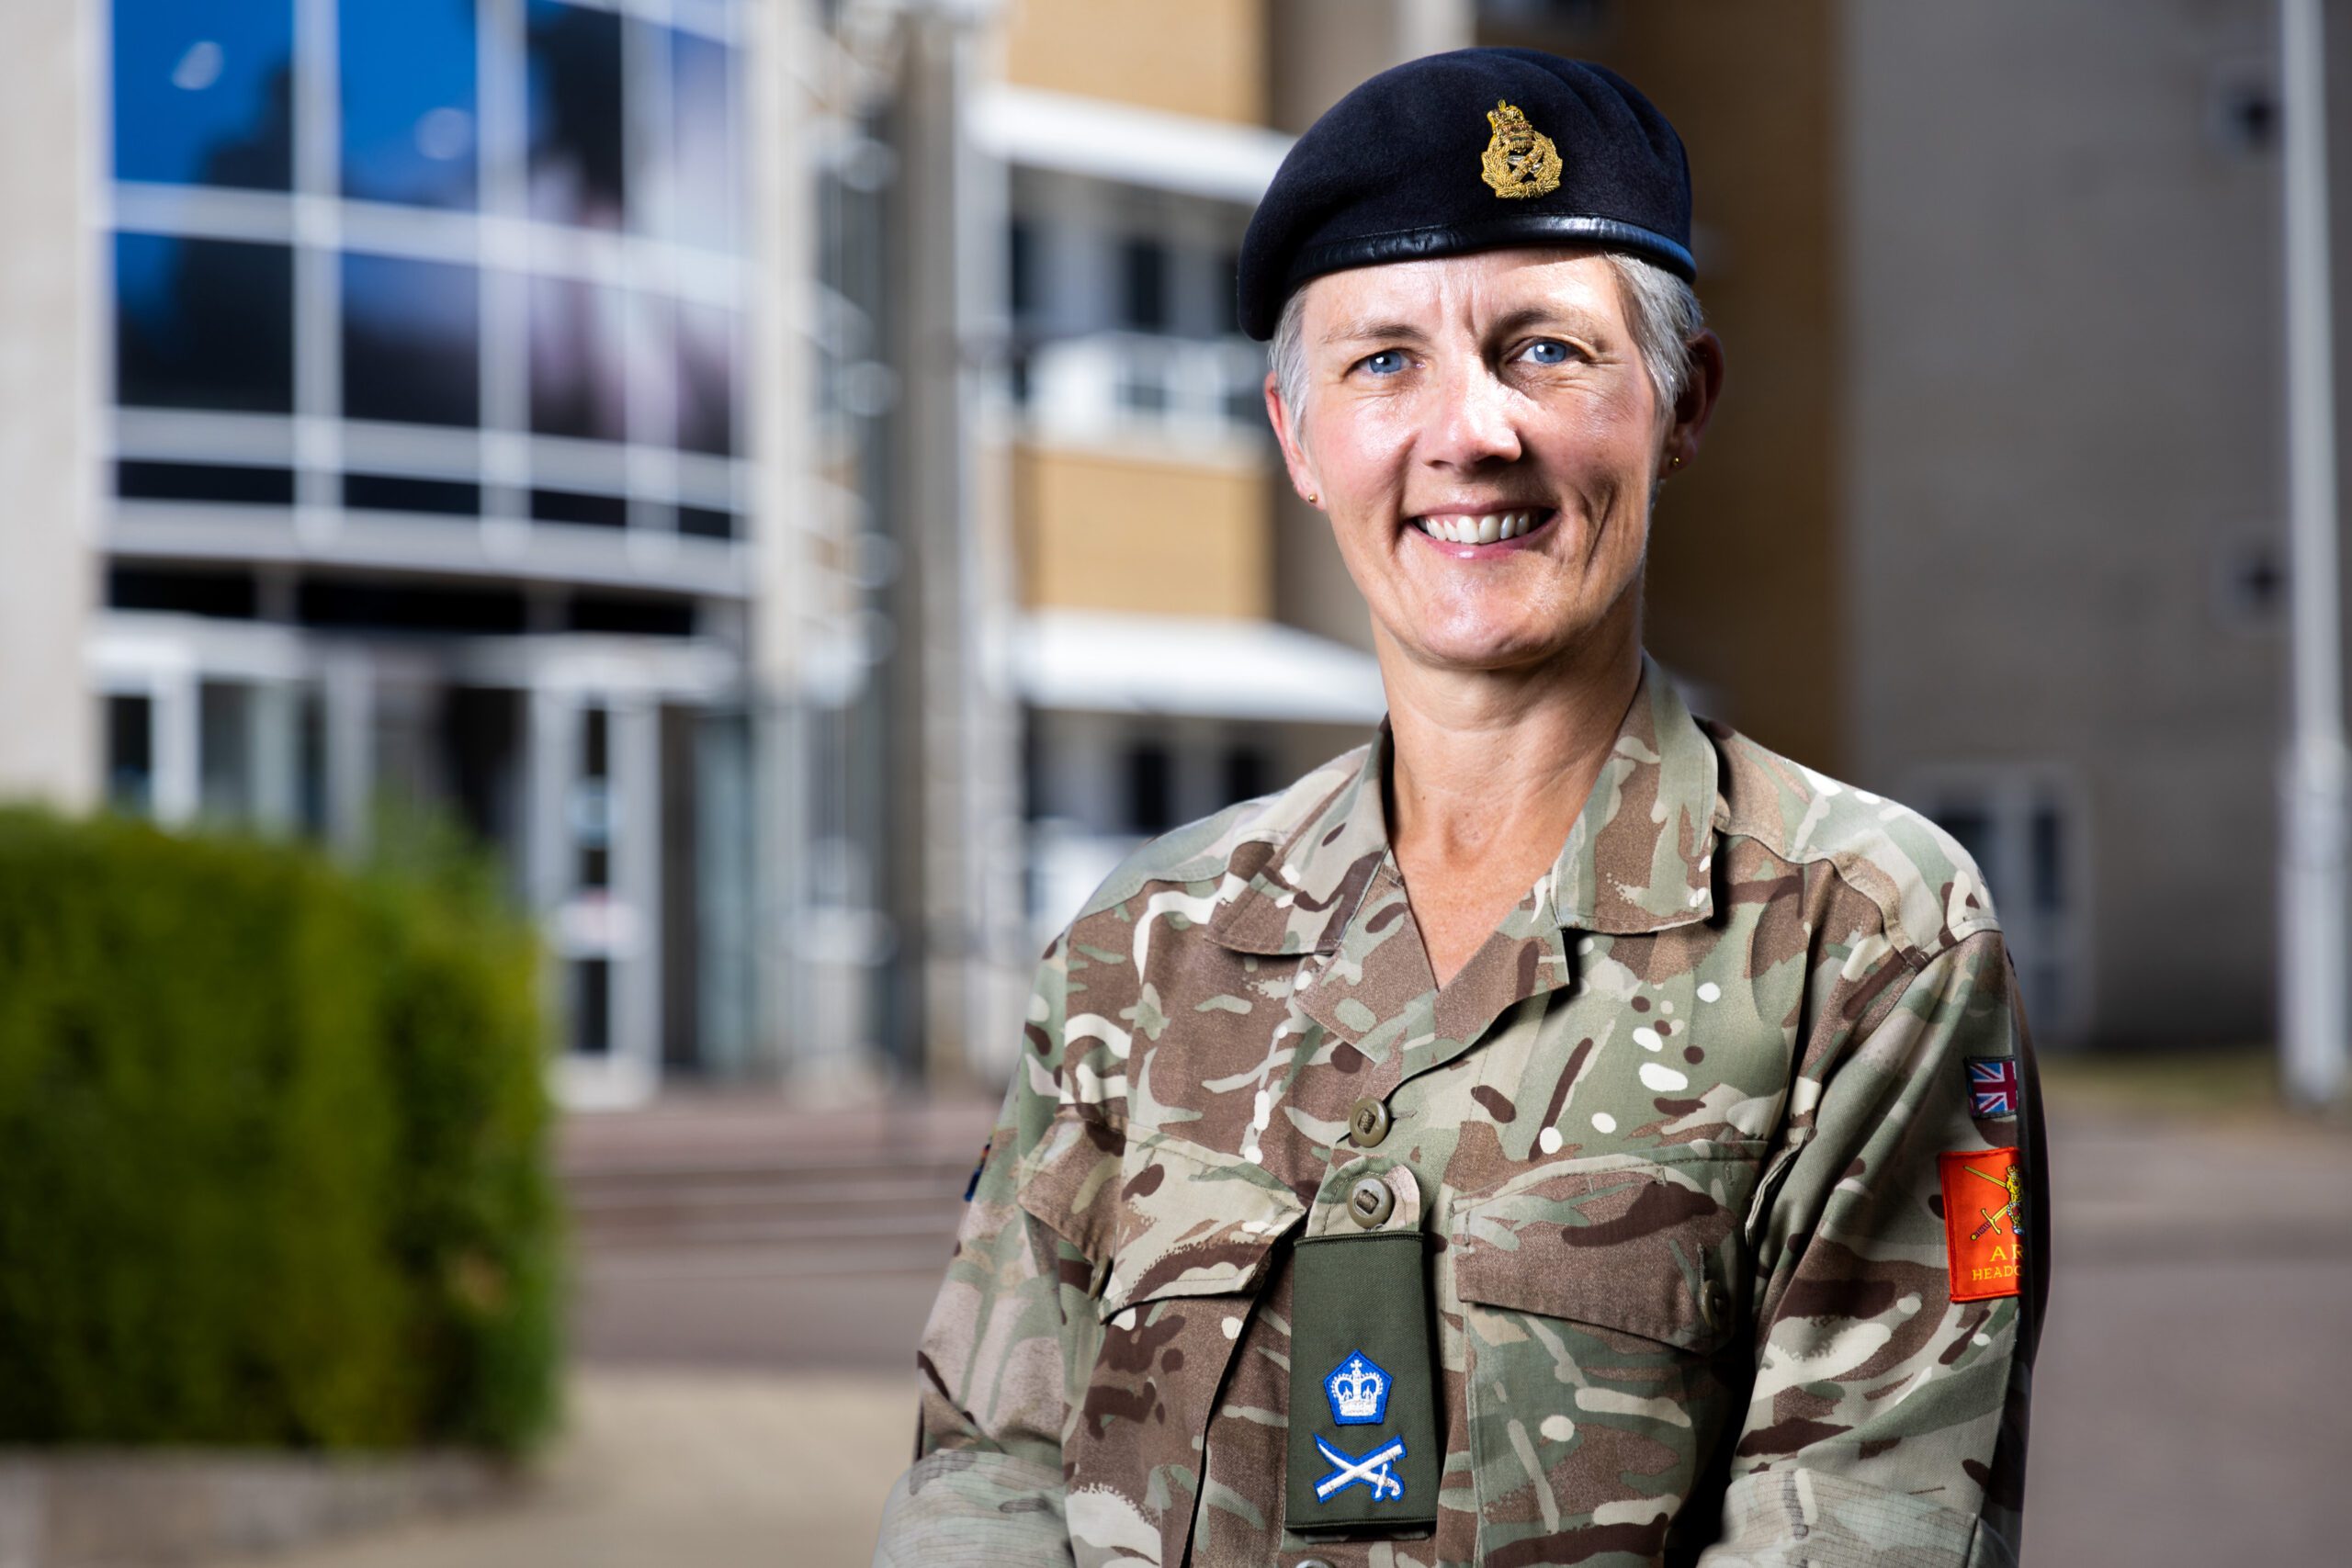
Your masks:
M 1381 780 L 1388 722 L 1364 764 L 1277 844 L 1249 844 L 1228 867 L 1230 893 L 1209 936 L 1258 954 L 1331 952 L 1364 889 L 1392 865 Z M 1715 914 L 1715 745 L 1675 682 L 1642 654 L 1642 682 L 1592 795 L 1536 886 L 1550 919 L 1573 931 L 1639 936 Z

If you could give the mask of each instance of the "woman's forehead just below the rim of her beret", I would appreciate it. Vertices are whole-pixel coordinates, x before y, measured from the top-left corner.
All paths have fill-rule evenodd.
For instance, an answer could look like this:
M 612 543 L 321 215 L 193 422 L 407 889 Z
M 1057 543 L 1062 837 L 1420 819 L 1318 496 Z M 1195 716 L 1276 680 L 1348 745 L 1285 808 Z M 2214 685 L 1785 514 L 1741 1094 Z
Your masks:
M 1477 334 L 1536 315 L 1623 329 L 1616 268 L 1588 249 L 1498 249 L 1359 266 L 1308 282 L 1301 324 L 1308 343 L 1319 343 L 1397 327 L 1428 336 Z

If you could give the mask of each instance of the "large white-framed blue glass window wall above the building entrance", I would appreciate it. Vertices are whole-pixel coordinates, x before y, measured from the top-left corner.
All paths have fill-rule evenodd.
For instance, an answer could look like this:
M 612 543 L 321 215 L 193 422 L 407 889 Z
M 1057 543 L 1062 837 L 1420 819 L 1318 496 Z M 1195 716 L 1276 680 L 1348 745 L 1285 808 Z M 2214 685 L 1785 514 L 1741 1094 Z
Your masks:
M 741 534 L 731 5 L 111 16 L 125 498 Z

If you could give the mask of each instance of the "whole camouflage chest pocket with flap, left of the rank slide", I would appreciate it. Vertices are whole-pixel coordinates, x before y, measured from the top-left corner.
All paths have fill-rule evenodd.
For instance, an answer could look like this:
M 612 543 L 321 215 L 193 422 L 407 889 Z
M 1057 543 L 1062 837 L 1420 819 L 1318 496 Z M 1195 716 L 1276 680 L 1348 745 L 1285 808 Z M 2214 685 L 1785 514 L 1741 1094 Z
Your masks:
M 1305 1204 L 1261 1166 L 1171 1140 L 1129 1145 L 1096 1180 L 1117 1197 L 1087 1204 L 1108 1255 L 1094 1366 L 1063 1446 L 1070 1535 L 1080 1568 L 1150 1556 L 1143 1547 L 1181 1563 L 1216 1392 Z

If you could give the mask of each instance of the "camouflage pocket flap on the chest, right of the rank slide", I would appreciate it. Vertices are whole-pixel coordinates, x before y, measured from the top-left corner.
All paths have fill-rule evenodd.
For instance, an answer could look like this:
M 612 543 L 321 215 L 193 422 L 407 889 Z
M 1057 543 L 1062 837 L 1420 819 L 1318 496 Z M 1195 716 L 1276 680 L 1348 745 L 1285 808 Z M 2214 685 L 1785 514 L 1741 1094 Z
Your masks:
M 1738 1159 L 1604 1154 L 1526 1171 L 1456 1208 L 1470 1302 L 1712 1349 L 1733 1326 Z

